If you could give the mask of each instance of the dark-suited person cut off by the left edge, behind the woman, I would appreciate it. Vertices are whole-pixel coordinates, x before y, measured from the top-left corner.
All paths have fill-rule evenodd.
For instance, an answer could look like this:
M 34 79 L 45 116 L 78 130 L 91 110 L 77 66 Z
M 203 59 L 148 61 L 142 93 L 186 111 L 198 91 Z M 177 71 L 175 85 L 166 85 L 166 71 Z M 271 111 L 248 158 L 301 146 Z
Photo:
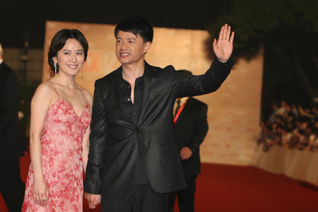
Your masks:
M 0 44 L 0 192 L 8 211 L 21 211 L 25 184 L 19 157 L 25 145 L 18 130 L 18 76 L 2 58 Z

